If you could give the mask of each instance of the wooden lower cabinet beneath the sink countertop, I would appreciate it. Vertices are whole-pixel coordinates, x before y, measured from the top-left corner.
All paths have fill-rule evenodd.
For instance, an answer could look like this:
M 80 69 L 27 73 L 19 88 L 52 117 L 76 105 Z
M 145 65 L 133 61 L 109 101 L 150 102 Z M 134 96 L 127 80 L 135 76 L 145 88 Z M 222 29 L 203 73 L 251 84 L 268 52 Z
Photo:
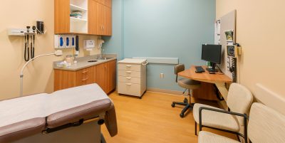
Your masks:
M 54 70 L 54 90 L 97 83 L 107 94 L 116 88 L 116 60 L 82 70 Z

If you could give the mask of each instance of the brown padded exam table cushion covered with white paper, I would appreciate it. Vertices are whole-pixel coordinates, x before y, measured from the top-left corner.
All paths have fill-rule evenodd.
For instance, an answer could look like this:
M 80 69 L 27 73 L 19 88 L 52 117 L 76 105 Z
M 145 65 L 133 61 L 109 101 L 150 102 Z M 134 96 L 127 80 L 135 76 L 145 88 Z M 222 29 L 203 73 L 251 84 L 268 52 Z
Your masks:
M 4 100 L 0 102 L 0 111 L 0 142 L 88 120 L 100 113 L 105 113 L 110 135 L 118 132 L 113 102 L 97 84 Z

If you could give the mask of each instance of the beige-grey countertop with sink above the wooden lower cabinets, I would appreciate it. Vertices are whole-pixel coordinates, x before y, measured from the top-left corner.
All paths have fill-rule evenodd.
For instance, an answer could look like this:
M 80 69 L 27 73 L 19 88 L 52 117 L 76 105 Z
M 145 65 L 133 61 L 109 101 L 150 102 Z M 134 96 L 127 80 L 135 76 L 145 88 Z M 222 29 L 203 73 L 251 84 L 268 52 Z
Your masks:
M 96 58 L 98 58 L 98 55 L 91 55 L 91 56 L 87 56 L 87 57 L 76 58 L 75 60 L 77 61 L 77 63 L 71 65 L 70 67 L 66 67 L 66 68 L 57 67 L 56 63 L 60 63 L 61 61 L 56 61 L 56 62 L 53 62 L 53 69 L 76 71 L 76 70 L 81 70 L 83 68 L 88 68 L 88 67 L 91 67 L 94 65 L 99 65 L 101 63 L 106 63 L 110 60 L 116 60 L 117 59 L 117 55 L 115 55 L 115 54 L 106 54 L 106 55 L 103 55 L 103 57 L 108 58 L 108 59 L 98 60 L 98 59 L 96 59 Z M 98 61 L 97 62 L 88 62 L 90 60 L 98 60 Z

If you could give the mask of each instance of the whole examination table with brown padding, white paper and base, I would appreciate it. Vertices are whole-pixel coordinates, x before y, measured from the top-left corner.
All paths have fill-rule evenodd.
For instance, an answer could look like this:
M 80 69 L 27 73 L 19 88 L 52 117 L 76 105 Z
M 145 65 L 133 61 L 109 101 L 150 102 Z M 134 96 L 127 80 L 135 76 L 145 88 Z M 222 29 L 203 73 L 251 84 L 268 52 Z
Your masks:
M 97 84 L 0 101 L 0 142 L 105 142 L 117 134 L 115 107 Z

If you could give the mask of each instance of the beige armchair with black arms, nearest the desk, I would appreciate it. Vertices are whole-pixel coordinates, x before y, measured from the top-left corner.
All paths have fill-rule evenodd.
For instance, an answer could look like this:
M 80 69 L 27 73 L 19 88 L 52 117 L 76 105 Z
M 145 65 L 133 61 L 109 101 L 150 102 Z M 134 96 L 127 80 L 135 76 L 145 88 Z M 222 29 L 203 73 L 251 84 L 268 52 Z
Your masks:
M 232 83 L 227 97 L 227 106 L 230 111 L 209 105 L 195 104 L 193 107 L 195 134 L 197 135 L 197 123 L 199 123 L 199 131 L 202 131 L 202 127 L 208 127 L 237 134 L 238 139 L 239 136 L 247 138 L 247 129 L 244 130 L 244 134 L 239 131 L 243 127 L 247 128 L 246 113 L 252 105 L 252 101 L 252 92 L 242 85 Z

